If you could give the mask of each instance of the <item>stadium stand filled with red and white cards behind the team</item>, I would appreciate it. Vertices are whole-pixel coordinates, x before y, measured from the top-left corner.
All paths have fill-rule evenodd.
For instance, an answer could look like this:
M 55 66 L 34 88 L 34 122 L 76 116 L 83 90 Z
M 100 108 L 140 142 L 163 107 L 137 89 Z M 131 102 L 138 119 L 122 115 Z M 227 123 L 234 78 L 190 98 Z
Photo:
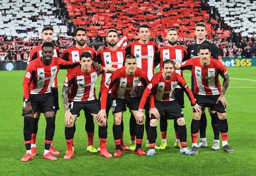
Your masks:
M 8 53 L 11 60 L 40 44 L 44 25 L 53 26 L 56 45 L 65 49 L 72 45 L 75 26 L 87 28 L 88 44 L 97 48 L 109 28 L 127 36 L 127 42 L 138 39 L 139 23 L 144 22 L 160 46 L 170 27 L 177 28 L 181 44 L 194 42 L 195 23 L 204 22 L 208 40 L 218 44 L 225 57 L 231 50 L 233 57 L 242 50 L 243 57 L 249 47 L 255 57 L 256 1 L 2 0 L 0 10 L 0 53 Z

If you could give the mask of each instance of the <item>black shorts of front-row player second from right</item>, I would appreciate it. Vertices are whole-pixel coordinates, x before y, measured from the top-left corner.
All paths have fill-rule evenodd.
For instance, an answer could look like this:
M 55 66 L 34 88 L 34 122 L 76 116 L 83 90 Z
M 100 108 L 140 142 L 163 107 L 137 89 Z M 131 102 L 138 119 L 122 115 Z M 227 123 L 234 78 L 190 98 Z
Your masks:
M 155 107 L 160 114 L 164 112 L 164 118 L 166 119 L 179 119 L 183 117 L 181 106 L 179 106 L 177 100 L 171 102 L 155 101 Z

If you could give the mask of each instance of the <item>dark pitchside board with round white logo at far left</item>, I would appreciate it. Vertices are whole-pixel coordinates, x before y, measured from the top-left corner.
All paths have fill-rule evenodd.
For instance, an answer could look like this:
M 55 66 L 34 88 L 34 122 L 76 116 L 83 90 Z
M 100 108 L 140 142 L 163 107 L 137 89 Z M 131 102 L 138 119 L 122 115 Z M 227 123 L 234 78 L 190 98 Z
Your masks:
M 27 62 L 15 61 L 15 62 L 0 62 L 0 70 L 26 70 Z

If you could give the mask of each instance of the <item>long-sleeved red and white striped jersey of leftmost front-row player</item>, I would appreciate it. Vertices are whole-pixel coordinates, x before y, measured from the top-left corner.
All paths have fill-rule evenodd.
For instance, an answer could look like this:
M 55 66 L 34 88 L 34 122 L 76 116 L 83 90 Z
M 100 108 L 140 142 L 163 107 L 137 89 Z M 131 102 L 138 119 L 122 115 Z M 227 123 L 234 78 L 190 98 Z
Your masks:
M 41 57 L 32 60 L 27 66 L 23 79 L 24 98 L 28 99 L 29 94 L 48 94 L 54 79 L 59 71 L 59 65 L 72 65 L 61 58 L 53 57 L 50 65 L 41 62 Z

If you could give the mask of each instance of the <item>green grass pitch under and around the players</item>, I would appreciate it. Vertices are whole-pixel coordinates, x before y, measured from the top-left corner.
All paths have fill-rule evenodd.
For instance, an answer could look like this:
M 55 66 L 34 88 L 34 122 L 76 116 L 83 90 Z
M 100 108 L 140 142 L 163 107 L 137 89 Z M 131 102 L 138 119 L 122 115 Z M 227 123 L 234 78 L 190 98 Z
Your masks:
M 59 71 L 60 110 L 56 115 L 54 146 L 61 152 L 58 161 L 42 159 L 45 140 L 45 118 L 41 114 L 36 138 L 37 156 L 29 162 L 20 162 L 25 154 L 23 142 L 22 80 L 25 70 L 0 71 L 0 118 L 1 118 L 1 175 L 255 175 L 256 172 L 256 66 L 228 67 L 230 84 L 226 92 L 227 117 L 229 122 L 229 145 L 235 153 L 212 151 L 213 132 L 210 115 L 207 113 L 208 148 L 199 148 L 197 156 L 179 154 L 174 148 L 173 121 L 168 121 L 168 148 L 156 151 L 155 156 L 137 156 L 133 151 L 124 151 L 121 158 L 103 158 L 99 153 L 86 151 L 84 114 L 77 119 L 74 138 L 75 153 L 70 161 L 63 159 L 66 151 L 64 137 L 64 108 L 61 100 L 62 84 L 66 70 Z M 190 85 L 190 73 L 184 72 Z M 96 86 L 98 96 L 100 78 Z M 222 82 L 222 79 L 221 79 Z M 192 108 L 185 96 L 184 115 L 187 124 L 187 143 L 191 145 L 190 122 Z M 95 123 L 96 124 L 96 123 Z M 113 116 L 108 120 L 108 151 L 114 153 Z M 145 133 L 144 133 L 145 134 Z M 142 146 L 145 146 L 145 135 Z M 124 113 L 124 141 L 129 145 L 129 113 Z M 161 135 L 158 124 L 156 145 Z M 95 147 L 98 147 L 98 127 L 95 125 Z M 147 151 L 146 148 L 144 148 Z

